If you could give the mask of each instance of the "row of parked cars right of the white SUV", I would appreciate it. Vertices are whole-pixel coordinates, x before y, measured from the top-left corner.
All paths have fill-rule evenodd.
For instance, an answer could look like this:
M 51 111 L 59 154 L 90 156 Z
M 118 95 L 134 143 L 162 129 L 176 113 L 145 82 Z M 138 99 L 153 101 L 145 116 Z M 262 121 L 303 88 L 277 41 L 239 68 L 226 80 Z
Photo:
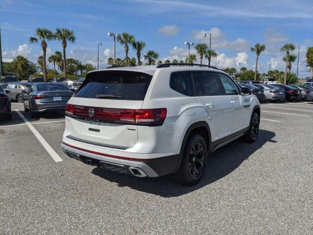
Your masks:
M 313 82 L 303 85 L 264 84 L 258 81 L 238 81 L 237 84 L 246 87 L 255 94 L 260 102 L 271 101 L 313 101 Z

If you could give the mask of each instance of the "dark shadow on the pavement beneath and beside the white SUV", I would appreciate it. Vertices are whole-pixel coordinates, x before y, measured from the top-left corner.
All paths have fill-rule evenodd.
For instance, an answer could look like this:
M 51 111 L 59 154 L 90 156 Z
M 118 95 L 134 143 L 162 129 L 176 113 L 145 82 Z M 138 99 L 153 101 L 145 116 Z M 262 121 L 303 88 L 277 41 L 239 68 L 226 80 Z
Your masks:
M 259 138 L 255 143 L 246 143 L 237 140 L 211 153 L 201 181 L 192 187 L 180 185 L 173 179 L 172 175 L 157 178 L 136 178 L 126 174 L 103 170 L 100 167 L 94 168 L 92 173 L 103 179 L 117 183 L 119 187 L 130 187 L 161 197 L 177 197 L 205 187 L 228 175 L 247 160 L 251 154 L 262 148 L 266 142 L 275 143 L 276 141 L 271 140 L 274 136 L 274 132 L 260 130 Z

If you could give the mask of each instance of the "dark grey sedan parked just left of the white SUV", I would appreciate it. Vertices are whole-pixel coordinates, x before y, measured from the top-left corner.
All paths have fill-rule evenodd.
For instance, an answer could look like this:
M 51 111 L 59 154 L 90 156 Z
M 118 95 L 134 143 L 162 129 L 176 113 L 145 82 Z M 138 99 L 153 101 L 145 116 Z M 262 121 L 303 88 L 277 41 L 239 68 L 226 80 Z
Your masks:
M 30 111 L 32 118 L 45 111 L 62 111 L 72 95 L 73 92 L 62 83 L 34 83 L 25 95 L 24 111 Z

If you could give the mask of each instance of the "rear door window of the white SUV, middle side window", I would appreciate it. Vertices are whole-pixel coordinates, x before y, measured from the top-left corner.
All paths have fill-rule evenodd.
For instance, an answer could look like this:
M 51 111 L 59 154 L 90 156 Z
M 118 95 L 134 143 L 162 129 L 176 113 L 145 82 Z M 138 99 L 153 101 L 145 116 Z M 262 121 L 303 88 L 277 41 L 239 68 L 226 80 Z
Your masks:
M 213 72 L 193 72 L 196 95 L 223 95 L 220 83 Z

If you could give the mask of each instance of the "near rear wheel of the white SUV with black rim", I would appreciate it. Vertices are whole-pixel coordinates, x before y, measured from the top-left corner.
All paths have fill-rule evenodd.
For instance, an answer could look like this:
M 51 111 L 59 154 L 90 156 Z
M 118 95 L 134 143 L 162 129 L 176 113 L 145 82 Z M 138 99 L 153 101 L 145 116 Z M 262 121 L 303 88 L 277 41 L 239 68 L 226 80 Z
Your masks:
M 196 134 L 186 143 L 176 179 L 183 185 L 197 184 L 205 170 L 207 146 L 203 137 Z

